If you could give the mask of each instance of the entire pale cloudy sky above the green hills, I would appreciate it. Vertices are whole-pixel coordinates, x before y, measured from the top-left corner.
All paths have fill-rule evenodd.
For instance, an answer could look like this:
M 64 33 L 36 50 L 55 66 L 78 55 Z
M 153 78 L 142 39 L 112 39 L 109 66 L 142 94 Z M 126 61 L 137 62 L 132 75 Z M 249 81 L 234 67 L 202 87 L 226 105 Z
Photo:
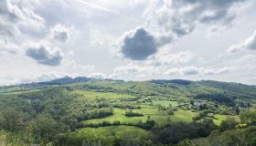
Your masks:
M 256 84 L 254 0 L 0 0 L 0 85 L 62 77 Z

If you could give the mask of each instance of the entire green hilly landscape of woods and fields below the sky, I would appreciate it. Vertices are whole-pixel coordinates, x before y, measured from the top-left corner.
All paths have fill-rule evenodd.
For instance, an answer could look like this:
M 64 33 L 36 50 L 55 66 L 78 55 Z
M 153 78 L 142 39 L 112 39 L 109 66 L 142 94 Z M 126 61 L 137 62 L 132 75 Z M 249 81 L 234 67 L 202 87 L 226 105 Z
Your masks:
M 256 86 L 59 78 L 0 88 L 2 146 L 254 146 Z

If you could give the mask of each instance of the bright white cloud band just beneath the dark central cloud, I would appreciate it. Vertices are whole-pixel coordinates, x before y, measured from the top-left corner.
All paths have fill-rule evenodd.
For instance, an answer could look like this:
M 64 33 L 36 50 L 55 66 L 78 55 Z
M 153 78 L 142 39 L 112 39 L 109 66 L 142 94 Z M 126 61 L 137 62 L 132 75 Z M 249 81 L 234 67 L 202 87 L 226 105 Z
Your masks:
M 113 69 L 113 74 L 122 77 L 154 77 L 163 75 L 169 68 L 187 64 L 194 54 L 190 51 L 170 53 L 168 50 L 161 49 L 155 56 L 149 57 L 145 61 L 133 61 L 125 66 Z

